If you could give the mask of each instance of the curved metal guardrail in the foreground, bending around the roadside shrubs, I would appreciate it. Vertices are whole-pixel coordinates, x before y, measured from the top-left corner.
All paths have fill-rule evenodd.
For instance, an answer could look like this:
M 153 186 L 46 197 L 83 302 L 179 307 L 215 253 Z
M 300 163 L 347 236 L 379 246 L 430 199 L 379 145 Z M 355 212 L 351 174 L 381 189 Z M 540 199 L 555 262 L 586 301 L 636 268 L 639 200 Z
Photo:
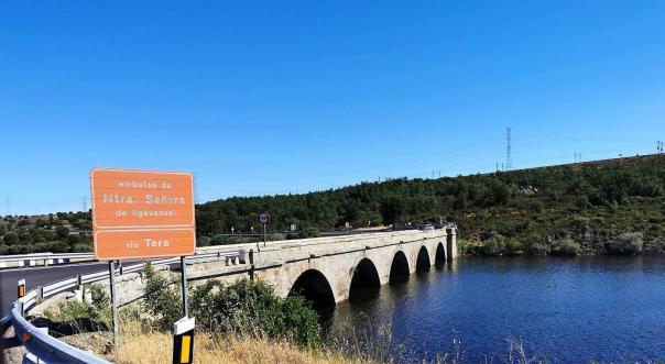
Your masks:
M 186 262 L 189 263 L 206 260 L 231 258 L 235 263 L 241 263 L 241 258 L 243 256 L 243 251 L 204 253 L 187 257 Z M 164 267 L 174 263 L 179 264 L 179 258 L 164 258 L 151 262 L 151 264 L 155 267 Z M 117 273 L 122 272 L 124 274 L 140 272 L 143 269 L 143 263 L 138 263 L 118 268 Z M 63 279 L 30 290 L 24 297 L 18 299 L 12 305 L 9 316 L 0 320 L 0 333 L 4 332 L 9 326 L 13 326 L 17 338 L 21 341 L 21 343 L 23 343 L 29 352 L 23 357 L 23 363 L 45 362 L 109 364 L 109 362 L 95 356 L 90 352 L 85 352 L 51 337 L 47 330 L 34 327 L 24 318 L 24 315 L 34 308 L 40 299 L 53 297 L 62 291 L 75 289 L 80 285 L 106 279 L 109 279 L 109 273 L 103 271 Z

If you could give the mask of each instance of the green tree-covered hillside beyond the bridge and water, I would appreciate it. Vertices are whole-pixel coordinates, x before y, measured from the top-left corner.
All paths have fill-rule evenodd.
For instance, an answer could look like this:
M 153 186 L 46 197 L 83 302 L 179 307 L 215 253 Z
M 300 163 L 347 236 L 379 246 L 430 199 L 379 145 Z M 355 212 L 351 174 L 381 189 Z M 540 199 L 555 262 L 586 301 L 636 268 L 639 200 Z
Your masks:
M 199 244 L 237 242 L 224 235 L 231 227 L 236 233 L 249 232 L 252 225 L 259 230 L 261 210 L 271 212 L 269 231 L 283 232 L 294 223 L 303 236 L 345 222 L 353 228 L 368 223 L 402 228 L 443 219 L 457 221 L 460 238 L 470 242 L 465 245 L 468 253 L 661 254 L 665 251 L 665 155 L 438 179 L 392 179 L 304 195 L 232 197 L 197 206 Z M 89 213 L 53 217 L 56 225 L 70 224 L 67 219 L 89 225 Z M 25 246 L 20 252 L 34 251 L 53 242 L 52 235 L 39 238 L 40 230 L 57 228 L 39 227 L 35 221 L 3 218 L 0 254 L 19 252 L 19 245 Z M 68 249 L 89 245 L 86 238 L 55 238 Z

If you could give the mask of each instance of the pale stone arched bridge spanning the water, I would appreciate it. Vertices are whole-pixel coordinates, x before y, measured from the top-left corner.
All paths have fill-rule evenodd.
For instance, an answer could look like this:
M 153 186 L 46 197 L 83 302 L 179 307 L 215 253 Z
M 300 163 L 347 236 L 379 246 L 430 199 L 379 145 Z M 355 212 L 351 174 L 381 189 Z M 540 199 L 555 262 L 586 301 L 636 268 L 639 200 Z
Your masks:
M 240 250 L 244 262 L 210 262 L 188 267 L 193 280 L 262 279 L 281 296 L 302 294 L 316 304 L 349 298 L 352 287 L 378 287 L 457 257 L 455 229 L 396 231 L 211 246 L 201 253 Z

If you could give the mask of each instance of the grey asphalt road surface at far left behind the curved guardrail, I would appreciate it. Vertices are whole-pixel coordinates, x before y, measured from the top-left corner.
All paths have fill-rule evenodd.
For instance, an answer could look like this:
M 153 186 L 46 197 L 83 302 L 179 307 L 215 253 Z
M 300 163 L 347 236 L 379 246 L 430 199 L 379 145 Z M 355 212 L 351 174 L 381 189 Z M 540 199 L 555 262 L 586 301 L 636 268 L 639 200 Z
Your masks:
M 9 315 L 11 304 L 17 300 L 17 284 L 20 279 L 25 279 L 25 291 L 29 291 L 34 287 L 72 278 L 79 274 L 106 269 L 108 269 L 108 263 L 78 263 L 0 271 L 0 317 Z

